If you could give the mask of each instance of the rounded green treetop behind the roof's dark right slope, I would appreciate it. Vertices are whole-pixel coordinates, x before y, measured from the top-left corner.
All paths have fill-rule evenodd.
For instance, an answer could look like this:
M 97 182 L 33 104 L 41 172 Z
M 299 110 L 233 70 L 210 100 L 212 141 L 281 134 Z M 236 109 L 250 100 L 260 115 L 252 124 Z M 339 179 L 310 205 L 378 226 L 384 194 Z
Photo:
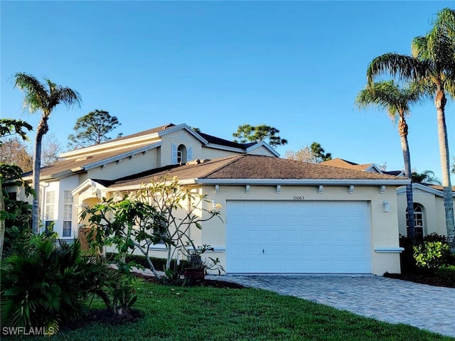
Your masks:
M 246 144 L 247 142 L 268 141 L 272 147 L 287 144 L 286 139 L 282 139 L 277 134 L 279 130 L 273 126 L 261 124 L 259 126 L 251 126 L 250 124 L 243 124 L 239 126 L 237 131 L 232 134 L 235 137 L 234 142 Z

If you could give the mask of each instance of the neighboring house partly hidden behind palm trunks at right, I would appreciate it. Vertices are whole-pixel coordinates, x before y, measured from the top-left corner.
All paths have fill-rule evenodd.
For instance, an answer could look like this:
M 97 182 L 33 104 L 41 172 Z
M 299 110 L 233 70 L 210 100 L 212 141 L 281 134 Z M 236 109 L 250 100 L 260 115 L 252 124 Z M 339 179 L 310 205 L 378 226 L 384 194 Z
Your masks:
M 350 161 L 336 158 L 324 161 L 321 164 L 346 169 L 360 169 L 362 171 L 404 176 L 403 171 L 380 171 L 373 163 L 358 165 Z M 446 216 L 444 210 L 444 193 L 441 185 L 412 183 L 412 197 L 414 201 L 415 236 L 422 239 L 427 234 L 437 233 L 446 235 Z M 455 189 L 452 193 L 455 207 Z M 398 226 L 402 236 L 407 236 L 407 199 L 406 187 L 397 188 Z

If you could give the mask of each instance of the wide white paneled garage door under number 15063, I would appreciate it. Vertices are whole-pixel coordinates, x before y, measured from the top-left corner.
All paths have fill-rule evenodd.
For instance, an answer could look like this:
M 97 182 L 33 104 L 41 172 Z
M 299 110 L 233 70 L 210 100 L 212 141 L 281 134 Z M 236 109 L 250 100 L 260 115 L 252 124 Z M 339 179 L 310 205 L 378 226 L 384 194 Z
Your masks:
M 370 274 L 368 202 L 228 201 L 230 274 Z

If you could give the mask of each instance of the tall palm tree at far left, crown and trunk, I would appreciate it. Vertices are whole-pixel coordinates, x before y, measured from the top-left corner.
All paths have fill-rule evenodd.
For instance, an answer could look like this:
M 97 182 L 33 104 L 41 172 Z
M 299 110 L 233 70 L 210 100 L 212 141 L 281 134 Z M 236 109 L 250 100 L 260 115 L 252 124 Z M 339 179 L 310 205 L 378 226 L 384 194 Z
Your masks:
M 70 108 L 80 105 L 80 94 L 69 87 L 61 87 L 45 78 L 45 84 L 39 82 L 36 77 L 23 72 L 14 75 L 14 87 L 24 93 L 23 109 L 28 109 L 32 114 L 41 112 L 41 119 L 36 129 L 35 153 L 33 156 L 33 189 L 36 196 L 33 197 L 32 229 L 34 233 L 39 231 L 39 200 L 40 200 L 40 169 L 41 169 L 41 141 L 48 132 L 48 119 L 57 104 L 63 103 Z

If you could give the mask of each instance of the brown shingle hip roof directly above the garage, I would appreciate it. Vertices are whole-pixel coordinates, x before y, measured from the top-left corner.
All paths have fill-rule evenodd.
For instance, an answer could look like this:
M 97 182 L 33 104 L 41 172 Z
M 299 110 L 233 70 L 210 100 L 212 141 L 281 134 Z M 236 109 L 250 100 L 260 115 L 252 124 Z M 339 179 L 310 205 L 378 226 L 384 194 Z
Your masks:
M 123 178 L 110 183 L 117 188 L 148 183 L 154 176 L 166 174 L 180 180 L 192 179 L 276 179 L 276 180 L 402 180 L 392 175 L 355 171 L 346 168 L 304 163 L 285 158 L 245 154 L 217 158 L 199 164 L 188 164 L 142 173 L 138 178 Z

